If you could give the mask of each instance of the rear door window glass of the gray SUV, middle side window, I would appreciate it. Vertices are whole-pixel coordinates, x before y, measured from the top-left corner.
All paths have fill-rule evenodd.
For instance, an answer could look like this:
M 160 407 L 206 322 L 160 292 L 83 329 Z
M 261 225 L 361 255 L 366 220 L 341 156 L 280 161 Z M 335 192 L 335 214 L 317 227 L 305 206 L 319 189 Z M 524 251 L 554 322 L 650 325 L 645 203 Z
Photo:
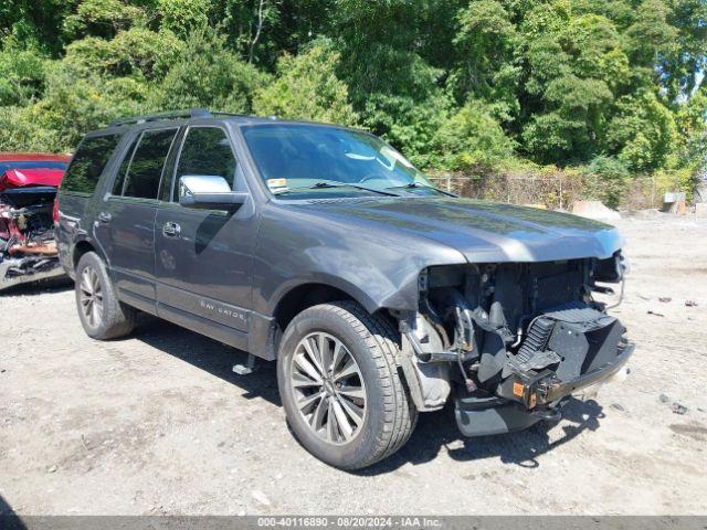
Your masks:
M 176 135 L 177 129 L 146 130 L 143 132 L 133 155 L 133 160 L 127 168 L 127 174 L 125 174 L 124 197 L 157 199 L 162 167 Z M 120 169 L 124 168 L 122 167 Z

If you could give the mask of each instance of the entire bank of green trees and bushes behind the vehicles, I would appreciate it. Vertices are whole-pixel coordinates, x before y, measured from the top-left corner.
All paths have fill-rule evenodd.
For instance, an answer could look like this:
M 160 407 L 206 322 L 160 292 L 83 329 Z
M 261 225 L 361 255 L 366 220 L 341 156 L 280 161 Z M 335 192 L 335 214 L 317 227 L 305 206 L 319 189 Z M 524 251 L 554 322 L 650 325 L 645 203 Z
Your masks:
M 559 167 L 614 205 L 707 168 L 704 0 L 7 0 L 0 39 L 0 149 L 207 106 L 358 125 L 433 170 Z

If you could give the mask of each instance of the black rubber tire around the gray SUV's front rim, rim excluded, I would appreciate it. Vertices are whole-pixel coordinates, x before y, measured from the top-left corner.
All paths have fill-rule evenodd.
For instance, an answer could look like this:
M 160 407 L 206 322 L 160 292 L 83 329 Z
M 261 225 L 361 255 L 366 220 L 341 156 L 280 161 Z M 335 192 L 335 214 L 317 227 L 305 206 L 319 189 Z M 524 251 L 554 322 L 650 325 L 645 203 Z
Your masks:
M 339 439 L 338 444 L 324 439 L 321 432 L 317 434 L 309 424 L 312 420 L 305 418 L 296 403 L 292 378 L 297 368 L 293 369 L 293 358 L 302 341 L 316 333 L 336 338 L 346 347 L 356 361 L 357 377 L 365 389 L 363 420 L 356 427 L 352 439 Z M 360 469 L 387 458 L 404 445 L 415 426 L 418 410 L 400 377 L 395 363 L 398 352 L 397 333 L 391 324 L 381 316 L 369 315 L 356 303 L 314 306 L 292 320 L 281 341 L 277 383 L 287 422 L 309 453 L 340 469 Z M 336 400 L 335 396 L 327 399 Z

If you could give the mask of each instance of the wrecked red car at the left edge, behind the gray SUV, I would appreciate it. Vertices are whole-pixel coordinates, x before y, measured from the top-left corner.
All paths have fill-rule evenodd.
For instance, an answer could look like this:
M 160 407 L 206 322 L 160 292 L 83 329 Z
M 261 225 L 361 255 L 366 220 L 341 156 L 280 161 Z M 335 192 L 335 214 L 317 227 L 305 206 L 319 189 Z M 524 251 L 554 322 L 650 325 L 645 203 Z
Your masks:
M 54 223 L 68 161 L 62 155 L 0 152 L 0 290 L 64 274 Z

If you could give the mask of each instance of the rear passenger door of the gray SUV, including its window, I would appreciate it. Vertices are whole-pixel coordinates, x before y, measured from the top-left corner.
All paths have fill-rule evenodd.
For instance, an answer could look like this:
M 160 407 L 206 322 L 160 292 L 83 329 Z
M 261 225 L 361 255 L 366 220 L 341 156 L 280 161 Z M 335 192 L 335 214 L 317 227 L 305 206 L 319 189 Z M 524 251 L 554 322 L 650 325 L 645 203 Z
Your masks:
M 95 230 L 118 295 L 152 312 L 158 189 L 177 132 L 177 127 L 156 128 L 133 138 L 112 189 L 101 199 Z

